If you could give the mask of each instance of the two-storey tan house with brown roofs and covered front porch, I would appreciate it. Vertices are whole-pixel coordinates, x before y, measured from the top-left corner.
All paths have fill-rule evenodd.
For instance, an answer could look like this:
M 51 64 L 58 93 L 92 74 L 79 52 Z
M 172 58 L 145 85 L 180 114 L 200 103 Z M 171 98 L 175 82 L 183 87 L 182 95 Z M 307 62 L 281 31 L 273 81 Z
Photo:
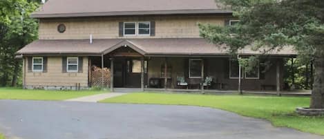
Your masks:
M 267 70 L 239 72 L 226 46 L 200 37 L 198 23 L 238 22 L 214 0 L 50 0 L 31 16 L 39 19 L 39 40 L 17 52 L 26 89 L 88 89 L 97 66 L 111 70 L 112 90 L 234 90 L 241 75 L 242 89 L 280 91 L 283 59 L 296 56 L 271 51 L 262 56 Z M 261 54 L 240 50 L 240 57 Z

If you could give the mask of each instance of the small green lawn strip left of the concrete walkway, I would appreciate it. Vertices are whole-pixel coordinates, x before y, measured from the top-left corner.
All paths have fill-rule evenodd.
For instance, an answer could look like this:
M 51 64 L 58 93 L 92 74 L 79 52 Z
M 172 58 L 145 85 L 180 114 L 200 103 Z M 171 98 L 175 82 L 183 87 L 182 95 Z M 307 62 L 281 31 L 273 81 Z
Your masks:
M 67 100 L 107 91 L 45 91 L 17 88 L 0 88 L 0 100 Z M 1 136 L 0 136 L 1 137 Z M 1 138 L 0 138 L 1 139 Z

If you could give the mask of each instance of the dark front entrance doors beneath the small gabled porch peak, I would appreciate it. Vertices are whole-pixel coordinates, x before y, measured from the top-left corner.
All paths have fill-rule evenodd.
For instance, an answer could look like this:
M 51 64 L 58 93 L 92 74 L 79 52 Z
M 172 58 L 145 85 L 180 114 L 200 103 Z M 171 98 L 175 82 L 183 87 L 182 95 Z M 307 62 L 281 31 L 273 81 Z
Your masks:
M 141 68 L 140 59 L 116 59 L 114 61 L 114 86 L 140 88 Z

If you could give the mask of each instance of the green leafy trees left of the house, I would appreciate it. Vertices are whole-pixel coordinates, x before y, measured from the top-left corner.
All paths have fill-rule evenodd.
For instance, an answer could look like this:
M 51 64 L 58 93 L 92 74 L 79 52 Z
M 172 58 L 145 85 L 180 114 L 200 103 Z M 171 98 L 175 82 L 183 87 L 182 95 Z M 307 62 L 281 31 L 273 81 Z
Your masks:
M 30 13 L 38 4 L 26 0 L 0 1 L 0 86 L 15 86 L 21 76 L 17 50 L 37 39 L 37 20 Z

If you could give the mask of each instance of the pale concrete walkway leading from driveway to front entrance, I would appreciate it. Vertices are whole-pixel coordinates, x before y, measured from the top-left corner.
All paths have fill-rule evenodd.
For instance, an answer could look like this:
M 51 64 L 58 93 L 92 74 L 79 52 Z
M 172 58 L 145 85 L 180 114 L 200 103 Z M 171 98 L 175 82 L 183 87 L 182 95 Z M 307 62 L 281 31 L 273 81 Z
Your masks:
M 98 95 L 90 95 L 82 98 L 73 98 L 66 100 L 68 102 L 98 102 L 100 100 L 105 100 L 107 98 L 114 98 L 120 95 L 126 95 L 127 93 L 102 93 Z

